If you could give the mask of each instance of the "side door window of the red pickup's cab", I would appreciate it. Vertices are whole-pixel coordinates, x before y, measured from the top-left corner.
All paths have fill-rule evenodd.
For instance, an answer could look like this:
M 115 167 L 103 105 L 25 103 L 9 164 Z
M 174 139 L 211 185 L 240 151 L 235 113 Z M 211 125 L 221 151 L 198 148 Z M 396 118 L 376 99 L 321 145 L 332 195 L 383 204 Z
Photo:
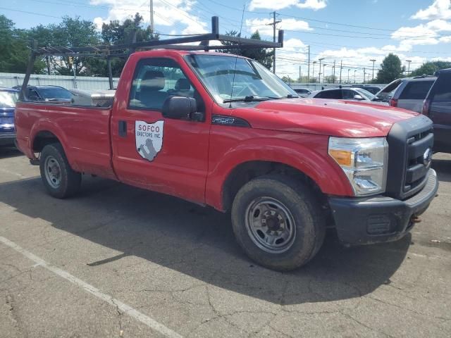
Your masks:
M 194 97 L 197 111 L 204 109 L 201 96 L 178 63 L 168 58 L 140 61 L 133 77 L 129 108 L 161 111 L 169 96 Z

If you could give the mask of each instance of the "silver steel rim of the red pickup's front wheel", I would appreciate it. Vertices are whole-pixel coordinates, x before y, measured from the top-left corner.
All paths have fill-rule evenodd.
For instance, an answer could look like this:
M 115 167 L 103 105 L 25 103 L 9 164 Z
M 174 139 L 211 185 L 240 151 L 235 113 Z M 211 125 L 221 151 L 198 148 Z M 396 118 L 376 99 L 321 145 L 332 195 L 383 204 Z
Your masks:
M 259 197 L 249 204 L 246 229 L 252 242 L 268 253 L 283 253 L 295 242 L 295 219 L 283 203 L 272 197 Z

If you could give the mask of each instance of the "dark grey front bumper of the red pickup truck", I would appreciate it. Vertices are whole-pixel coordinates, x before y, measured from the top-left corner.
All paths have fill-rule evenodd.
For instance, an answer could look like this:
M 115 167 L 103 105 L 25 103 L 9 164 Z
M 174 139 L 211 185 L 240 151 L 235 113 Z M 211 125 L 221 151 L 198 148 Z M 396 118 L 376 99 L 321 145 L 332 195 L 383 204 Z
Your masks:
M 330 197 L 329 205 L 340 242 L 359 245 L 402 238 L 412 229 L 412 218 L 426 211 L 437 190 L 437 175 L 430 169 L 424 188 L 404 201 L 387 196 Z

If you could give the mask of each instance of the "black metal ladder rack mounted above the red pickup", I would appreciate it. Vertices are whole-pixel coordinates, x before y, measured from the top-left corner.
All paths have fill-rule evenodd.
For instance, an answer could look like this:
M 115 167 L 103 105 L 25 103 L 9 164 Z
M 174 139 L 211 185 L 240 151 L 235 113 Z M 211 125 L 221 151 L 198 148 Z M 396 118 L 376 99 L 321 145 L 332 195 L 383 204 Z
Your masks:
M 228 45 L 210 46 L 210 42 L 218 40 L 230 42 Z M 191 44 L 199 42 L 199 44 Z M 252 48 L 281 48 L 283 47 L 283 30 L 278 32 L 278 41 L 269 42 L 245 37 L 230 37 L 219 34 L 219 20 L 217 16 L 211 17 L 211 32 L 206 34 L 190 35 L 187 37 L 175 37 L 173 39 L 150 40 L 142 42 L 130 42 L 128 44 L 82 46 L 68 48 L 66 46 L 38 47 L 37 42 L 30 46 L 31 54 L 27 65 L 27 71 L 23 79 L 20 100 L 27 101 L 25 89 L 27 88 L 30 75 L 37 56 L 73 56 L 86 58 L 106 58 L 108 61 L 110 89 L 113 89 L 113 75 L 111 73 L 111 58 L 128 58 L 134 51 L 149 49 L 176 49 L 181 51 L 210 51 L 235 49 L 237 47 Z

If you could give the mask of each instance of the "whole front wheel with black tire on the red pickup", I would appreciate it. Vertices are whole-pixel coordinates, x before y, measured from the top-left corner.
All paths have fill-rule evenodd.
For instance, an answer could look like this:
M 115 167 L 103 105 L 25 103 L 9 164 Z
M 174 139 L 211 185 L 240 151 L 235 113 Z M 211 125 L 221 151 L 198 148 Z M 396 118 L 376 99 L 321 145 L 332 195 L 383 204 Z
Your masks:
M 233 232 L 247 255 L 273 270 L 306 264 L 323 244 L 325 221 L 307 185 L 283 175 L 245 184 L 232 206 Z

